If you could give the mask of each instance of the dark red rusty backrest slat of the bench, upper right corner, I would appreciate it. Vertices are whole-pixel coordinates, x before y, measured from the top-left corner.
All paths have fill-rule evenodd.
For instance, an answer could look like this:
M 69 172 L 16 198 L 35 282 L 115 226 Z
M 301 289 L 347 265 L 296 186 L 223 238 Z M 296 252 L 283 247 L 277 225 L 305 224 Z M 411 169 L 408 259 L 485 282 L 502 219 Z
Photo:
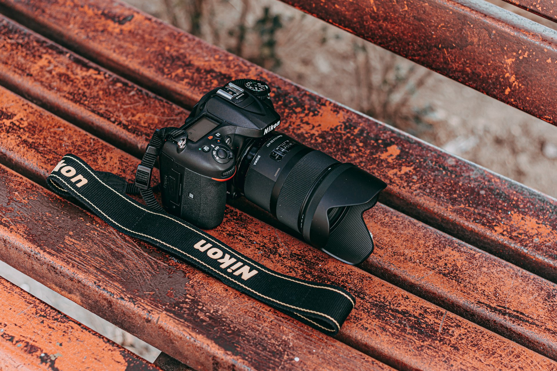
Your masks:
M 553 29 L 484 0 L 283 1 L 557 125 Z M 509 2 L 555 19 L 551 0 Z

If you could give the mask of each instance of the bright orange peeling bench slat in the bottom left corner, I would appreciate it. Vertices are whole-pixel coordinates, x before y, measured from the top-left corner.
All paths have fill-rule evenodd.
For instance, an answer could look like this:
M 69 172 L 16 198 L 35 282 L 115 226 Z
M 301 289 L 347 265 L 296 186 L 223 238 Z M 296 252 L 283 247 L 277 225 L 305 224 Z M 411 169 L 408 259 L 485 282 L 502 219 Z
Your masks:
M 0 277 L 0 370 L 160 368 Z

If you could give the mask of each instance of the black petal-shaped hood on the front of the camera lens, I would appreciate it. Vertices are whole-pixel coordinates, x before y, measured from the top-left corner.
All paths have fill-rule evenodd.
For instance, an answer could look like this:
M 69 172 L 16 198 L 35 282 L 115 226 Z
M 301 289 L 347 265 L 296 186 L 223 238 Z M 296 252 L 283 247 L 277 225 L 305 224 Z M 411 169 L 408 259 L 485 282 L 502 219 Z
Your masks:
M 363 213 L 375 205 L 385 187 L 385 182 L 358 166 L 336 166 L 314 190 L 306 207 L 304 239 L 345 263 L 361 263 L 373 252 L 373 238 Z M 344 210 L 331 230 L 328 211 L 334 207 Z

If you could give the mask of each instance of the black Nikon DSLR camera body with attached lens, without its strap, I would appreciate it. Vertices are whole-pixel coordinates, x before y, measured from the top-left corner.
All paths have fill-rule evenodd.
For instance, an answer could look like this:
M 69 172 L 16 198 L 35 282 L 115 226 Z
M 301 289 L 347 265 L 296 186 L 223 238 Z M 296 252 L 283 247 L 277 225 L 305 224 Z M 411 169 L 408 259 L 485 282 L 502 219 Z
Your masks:
M 165 209 L 203 229 L 221 224 L 227 195 L 241 194 L 349 264 L 373 251 L 362 214 L 387 185 L 274 131 L 280 116 L 263 81 L 234 80 L 193 107 L 187 135 L 160 152 Z

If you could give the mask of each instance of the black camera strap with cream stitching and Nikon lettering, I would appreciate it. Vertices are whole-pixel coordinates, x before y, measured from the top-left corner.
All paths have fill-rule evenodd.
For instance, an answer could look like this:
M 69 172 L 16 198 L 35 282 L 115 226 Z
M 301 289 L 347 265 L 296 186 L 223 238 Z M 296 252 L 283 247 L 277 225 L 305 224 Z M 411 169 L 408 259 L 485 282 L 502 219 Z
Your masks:
M 355 304 L 347 291 L 268 269 L 168 214 L 154 196 L 158 207 L 140 204 L 125 194 L 135 187 L 119 179 L 109 172 L 93 170 L 79 157 L 68 154 L 52 170 L 47 183 L 58 195 L 77 201 L 121 233 L 153 244 L 325 334 L 338 333 Z M 146 192 L 146 196 L 152 194 L 152 190 Z

